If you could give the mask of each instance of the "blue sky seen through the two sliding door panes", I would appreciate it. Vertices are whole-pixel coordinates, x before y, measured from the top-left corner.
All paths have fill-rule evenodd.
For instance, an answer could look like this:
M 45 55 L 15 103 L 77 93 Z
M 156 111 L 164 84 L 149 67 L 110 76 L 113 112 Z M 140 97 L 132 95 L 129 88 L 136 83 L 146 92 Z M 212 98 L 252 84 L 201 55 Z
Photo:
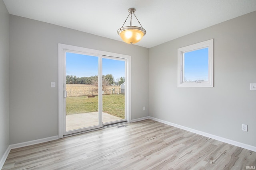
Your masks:
M 102 74 L 112 74 L 114 79 L 125 76 L 125 61 L 102 59 Z M 66 75 L 90 77 L 98 75 L 98 57 L 66 53 Z

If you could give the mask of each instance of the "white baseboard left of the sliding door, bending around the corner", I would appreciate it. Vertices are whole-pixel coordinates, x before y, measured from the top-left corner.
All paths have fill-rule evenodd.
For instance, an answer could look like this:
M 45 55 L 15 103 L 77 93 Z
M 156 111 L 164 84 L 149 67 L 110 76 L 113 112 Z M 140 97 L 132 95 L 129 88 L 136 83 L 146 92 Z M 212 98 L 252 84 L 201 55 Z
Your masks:
M 8 154 L 10 153 L 11 149 L 26 147 L 26 146 L 35 145 L 35 144 L 38 144 L 38 143 L 54 141 L 54 140 L 57 140 L 57 139 L 59 139 L 58 136 L 53 136 L 53 137 L 46 137 L 46 138 L 43 138 L 43 139 L 37 139 L 37 140 L 34 140 L 34 141 L 28 141 L 28 142 L 22 142 L 22 143 L 9 145 L 9 147 L 6 149 L 6 151 L 4 152 L 4 155 L 1 158 L 0 169 L 2 169 L 2 167 L 4 166 L 4 162 L 5 162 Z

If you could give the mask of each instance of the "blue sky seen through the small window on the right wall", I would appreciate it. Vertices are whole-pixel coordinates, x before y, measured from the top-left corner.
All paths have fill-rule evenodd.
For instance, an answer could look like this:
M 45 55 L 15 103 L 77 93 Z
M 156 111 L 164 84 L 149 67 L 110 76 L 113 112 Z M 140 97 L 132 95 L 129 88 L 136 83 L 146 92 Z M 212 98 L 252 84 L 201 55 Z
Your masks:
M 208 81 L 208 48 L 184 53 L 184 81 Z

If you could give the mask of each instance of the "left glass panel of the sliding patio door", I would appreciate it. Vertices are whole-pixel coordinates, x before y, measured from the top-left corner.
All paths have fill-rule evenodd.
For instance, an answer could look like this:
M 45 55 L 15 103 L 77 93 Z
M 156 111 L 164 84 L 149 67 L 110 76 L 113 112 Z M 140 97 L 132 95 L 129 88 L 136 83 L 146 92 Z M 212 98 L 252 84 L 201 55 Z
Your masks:
M 98 56 L 66 52 L 66 133 L 102 127 Z

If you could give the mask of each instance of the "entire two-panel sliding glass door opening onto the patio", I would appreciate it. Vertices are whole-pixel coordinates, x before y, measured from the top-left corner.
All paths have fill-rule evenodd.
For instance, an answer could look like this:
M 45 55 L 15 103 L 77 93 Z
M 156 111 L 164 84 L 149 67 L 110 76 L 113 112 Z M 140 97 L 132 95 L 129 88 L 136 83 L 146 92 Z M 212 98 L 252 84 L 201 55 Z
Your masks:
M 63 56 L 63 135 L 127 121 L 127 59 L 74 50 Z

